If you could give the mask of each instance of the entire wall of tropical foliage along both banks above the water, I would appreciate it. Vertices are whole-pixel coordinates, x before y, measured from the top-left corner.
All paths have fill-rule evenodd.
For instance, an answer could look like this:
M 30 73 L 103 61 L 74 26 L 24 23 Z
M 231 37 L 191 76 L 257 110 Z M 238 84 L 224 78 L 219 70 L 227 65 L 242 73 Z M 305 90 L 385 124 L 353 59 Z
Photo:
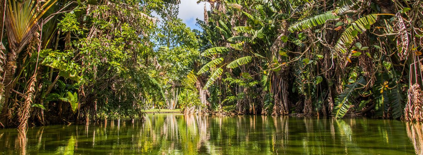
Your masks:
M 421 1 L 203 1 L 191 30 L 179 0 L 1 0 L 0 122 L 149 108 L 423 120 Z

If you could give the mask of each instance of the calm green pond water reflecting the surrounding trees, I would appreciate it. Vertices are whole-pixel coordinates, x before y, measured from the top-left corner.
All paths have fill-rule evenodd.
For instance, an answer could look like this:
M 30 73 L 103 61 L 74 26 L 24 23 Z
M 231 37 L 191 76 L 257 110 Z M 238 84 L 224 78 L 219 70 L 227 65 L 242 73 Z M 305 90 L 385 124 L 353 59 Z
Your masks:
M 421 124 L 287 116 L 148 114 L 145 122 L 0 129 L 2 154 L 422 154 Z

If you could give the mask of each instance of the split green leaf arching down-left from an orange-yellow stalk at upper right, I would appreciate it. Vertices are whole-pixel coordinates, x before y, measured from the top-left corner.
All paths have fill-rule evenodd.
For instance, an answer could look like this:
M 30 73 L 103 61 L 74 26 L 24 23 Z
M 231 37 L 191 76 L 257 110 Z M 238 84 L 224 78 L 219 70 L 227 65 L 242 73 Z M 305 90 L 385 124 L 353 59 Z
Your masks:
M 370 25 L 376 22 L 376 19 L 376 14 L 369 14 L 351 23 L 351 25 L 341 34 L 341 37 L 338 39 L 335 48 L 340 50 L 342 53 L 346 53 L 346 47 L 354 41 L 354 39 L 357 37 L 357 34 L 363 33 L 363 31 L 369 29 Z

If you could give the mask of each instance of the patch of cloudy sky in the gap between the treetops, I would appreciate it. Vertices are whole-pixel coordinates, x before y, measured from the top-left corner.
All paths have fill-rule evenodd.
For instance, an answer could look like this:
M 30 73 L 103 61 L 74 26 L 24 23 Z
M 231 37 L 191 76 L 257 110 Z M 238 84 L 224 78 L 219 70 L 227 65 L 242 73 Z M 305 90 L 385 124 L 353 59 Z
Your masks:
M 197 4 L 197 1 L 198 0 L 181 0 L 181 4 L 179 4 L 178 17 L 192 29 L 199 29 L 195 26 L 197 22 L 195 19 L 204 19 L 204 3 L 206 2 Z M 208 3 L 206 7 L 210 10 L 210 5 Z

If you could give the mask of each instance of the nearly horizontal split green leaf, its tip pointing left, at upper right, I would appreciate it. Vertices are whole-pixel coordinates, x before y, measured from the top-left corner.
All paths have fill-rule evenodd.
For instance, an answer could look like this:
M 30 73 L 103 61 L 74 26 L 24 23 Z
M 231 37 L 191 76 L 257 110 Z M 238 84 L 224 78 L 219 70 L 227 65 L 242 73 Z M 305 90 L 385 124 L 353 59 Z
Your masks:
M 339 18 L 339 16 L 335 16 L 334 14 L 332 14 L 332 11 L 327 11 L 323 14 L 319 14 L 314 17 L 310 17 L 308 19 L 299 21 L 291 25 L 288 28 L 288 30 L 291 32 L 294 32 L 294 31 L 304 30 L 307 28 L 312 28 L 314 26 L 324 24 L 328 19 L 335 19 L 335 18 Z

